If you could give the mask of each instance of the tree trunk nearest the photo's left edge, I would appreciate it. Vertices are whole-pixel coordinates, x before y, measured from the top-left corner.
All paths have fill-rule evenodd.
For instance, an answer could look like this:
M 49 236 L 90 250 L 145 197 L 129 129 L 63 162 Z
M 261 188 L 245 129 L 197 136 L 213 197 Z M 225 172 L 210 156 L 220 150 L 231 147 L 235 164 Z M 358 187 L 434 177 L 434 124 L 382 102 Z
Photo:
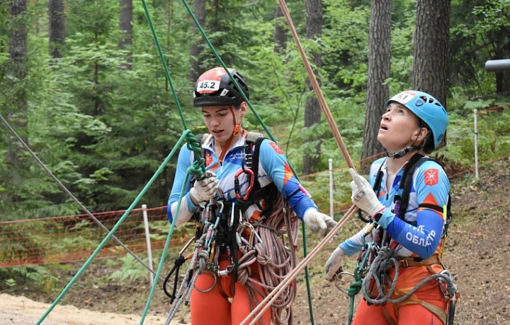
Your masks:
M 9 94 L 7 120 L 18 132 L 23 141 L 28 143 L 27 110 L 28 100 L 23 79 L 27 76 L 27 29 L 26 29 L 26 0 L 8 1 L 8 12 L 12 25 L 9 30 L 8 51 L 11 64 L 8 65 L 8 74 L 13 81 L 12 93 Z M 8 143 L 7 162 L 13 166 L 19 163 L 18 142 L 11 138 Z

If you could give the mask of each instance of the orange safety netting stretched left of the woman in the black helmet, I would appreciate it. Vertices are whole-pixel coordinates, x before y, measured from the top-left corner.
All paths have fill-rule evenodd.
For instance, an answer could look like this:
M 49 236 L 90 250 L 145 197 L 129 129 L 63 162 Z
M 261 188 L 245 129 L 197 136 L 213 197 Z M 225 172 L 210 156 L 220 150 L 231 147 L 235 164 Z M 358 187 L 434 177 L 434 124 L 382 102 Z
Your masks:
M 94 213 L 94 216 L 111 229 L 125 211 Z M 115 237 L 132 252 L 147 256 L 147 242 L 142 209 L 133 209 L 115 232 Z M 147 209 L 152 251 L 164 247 L 170 224 L 166 218 L 166 206 Z M 186 242 L 191 235 L 174 232 L 171 244 Z M 0 267 L 26 266 L 29 264 L 56 264 L 85 261 L 106 237 L 89 215 L 66 215 L 52 218 L 14 220 L 0 222 Z M 98 259 L 120 257 L 128 254 L 113 238 L 106 243 Z

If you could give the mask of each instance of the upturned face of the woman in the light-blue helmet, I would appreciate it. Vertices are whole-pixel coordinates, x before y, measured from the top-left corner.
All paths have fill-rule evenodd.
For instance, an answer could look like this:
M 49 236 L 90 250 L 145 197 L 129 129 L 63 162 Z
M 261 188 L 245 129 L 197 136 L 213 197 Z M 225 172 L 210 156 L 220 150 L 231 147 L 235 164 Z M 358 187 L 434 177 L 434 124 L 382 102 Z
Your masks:
M 419 119 L 403 105 L 392 102 L 388 105 L 379 127 L 378 140 L 390 153 L 423 140 L 426 129 L 419 126 Z

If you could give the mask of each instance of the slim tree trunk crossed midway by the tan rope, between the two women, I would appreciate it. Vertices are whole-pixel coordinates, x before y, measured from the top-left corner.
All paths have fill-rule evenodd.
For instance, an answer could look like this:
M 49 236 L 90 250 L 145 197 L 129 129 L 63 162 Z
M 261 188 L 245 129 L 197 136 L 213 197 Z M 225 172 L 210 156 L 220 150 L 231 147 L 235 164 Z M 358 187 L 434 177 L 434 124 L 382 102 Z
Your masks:
M 314 40 L 322 35 L 322 0 L 306 0 L 306 36 L 308 40 Z M 312 52 L 312 60 L 317 68 L 322 66 L 321 54 Z M 317 71 L 314 71 L 317 76 Z M 319 81 L 320 85 L 320 81 Z M 313 90 L 312 83 L 307 80 L 307 87 L 309 90 Z M 321 109 L 319 106 L 319 100 L 315 95 L 307 98 L 305 105 L 305 128 L 320 124 L 321 122 Z M 317 142 L 314 148 L 314 153 L 311 155 L 303 154 L 303 175 L 314 172 L 317 164 L 320 161 L 320 141 L 318 136 L 313 136 L 307 140 L 307 142 Z

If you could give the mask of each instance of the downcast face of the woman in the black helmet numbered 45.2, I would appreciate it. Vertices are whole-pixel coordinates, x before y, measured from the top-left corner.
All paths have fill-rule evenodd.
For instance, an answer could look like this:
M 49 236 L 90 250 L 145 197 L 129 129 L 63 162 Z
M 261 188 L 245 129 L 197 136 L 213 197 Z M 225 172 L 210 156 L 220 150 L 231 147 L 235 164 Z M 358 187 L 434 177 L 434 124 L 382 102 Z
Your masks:
M 235 115 L 235 122 L 241 123 L 243 112 L 246 112 L 246 107 L 241 105 L 241 109 L 236 110 L 232 107 Z M 234 132 L 234 117 L 230 106 L 205 106 L 202 107 L 202 116 L 210 134 L 214 136 L 215 141 L 220 144 L 225 144 L 232 133 Z

